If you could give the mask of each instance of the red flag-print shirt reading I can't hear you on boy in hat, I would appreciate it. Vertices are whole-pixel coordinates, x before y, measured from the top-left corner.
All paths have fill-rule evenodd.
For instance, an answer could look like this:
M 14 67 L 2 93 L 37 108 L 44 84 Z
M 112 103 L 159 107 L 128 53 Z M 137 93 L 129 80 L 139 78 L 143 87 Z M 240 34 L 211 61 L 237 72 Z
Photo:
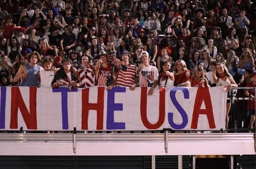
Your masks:
M 108 64 L 106 68 L 100 65 L 99 76 L 97 79 L 97 86 L 109 86 L 113 82 L 113 65 Z

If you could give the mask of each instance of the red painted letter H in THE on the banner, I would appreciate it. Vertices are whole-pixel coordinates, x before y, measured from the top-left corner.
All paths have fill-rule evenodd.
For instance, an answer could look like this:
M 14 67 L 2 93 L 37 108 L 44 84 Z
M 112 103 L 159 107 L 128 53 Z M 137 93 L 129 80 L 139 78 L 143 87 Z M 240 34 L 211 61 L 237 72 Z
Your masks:
M 89 103 L 89 88 L 82 90 L 82 129 L 83 130 L 88 130 L 89 110 L 97 110 L 96 129 L 97 130 L 103 129 L 104 91 L 105 91 L 105 87 L 98 87 L 97 103 Z

